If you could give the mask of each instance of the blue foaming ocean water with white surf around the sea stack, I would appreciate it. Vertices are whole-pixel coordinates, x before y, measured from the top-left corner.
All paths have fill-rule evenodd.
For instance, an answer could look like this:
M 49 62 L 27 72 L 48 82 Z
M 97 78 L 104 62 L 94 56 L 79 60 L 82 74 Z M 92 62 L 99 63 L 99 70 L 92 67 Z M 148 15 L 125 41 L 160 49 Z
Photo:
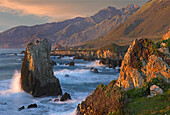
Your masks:
M 74 115 L 77 105 L 92 94 L 99 84 L 107 85 L 119 77 L 116 70 L 100 65 L 99 60 L 73 60 L 73 57 L 57 59 L 57 56 L 51 56 L 57 63 L 53 69 L 54 75 L 59 78 L 63 93 L 69 93 L 72 99 L 60 102 L 54 101 L 59 97 L 35 98 L 20 87 L 20 70 L 24 57 L 24 54 L 20 54 L 22 50 L 0 49 L 0 115 Z M 70 61 L 74 61 L 75 66 L 65 65 Z M 97 68 L 99 73 L 91 72 L 91 67 Z M 33 103 L 38 107 L 27 109 Z M 18 111 L 22 106 L 26 108 Z

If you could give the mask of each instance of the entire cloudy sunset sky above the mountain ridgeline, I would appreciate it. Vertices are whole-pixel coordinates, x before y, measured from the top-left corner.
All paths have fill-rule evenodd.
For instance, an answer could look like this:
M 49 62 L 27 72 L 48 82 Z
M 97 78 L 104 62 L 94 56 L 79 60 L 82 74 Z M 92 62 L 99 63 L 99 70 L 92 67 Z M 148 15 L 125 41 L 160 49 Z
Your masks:
M 15 26 L 88 17 L 108 6 L 142 6 L 148 0 L 0 0 L 0 32 Z

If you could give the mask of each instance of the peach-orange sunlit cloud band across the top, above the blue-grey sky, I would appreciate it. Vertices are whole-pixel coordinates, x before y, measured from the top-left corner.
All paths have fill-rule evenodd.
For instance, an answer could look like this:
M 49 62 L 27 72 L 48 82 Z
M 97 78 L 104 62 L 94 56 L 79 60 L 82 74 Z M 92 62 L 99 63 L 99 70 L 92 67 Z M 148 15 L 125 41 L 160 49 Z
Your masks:
M 147 0 L 0 0 L 0 12 L 61 21 L 77 16 L 90 16 L 109 5 L 120 8 L 134 1 L 140 3 Z

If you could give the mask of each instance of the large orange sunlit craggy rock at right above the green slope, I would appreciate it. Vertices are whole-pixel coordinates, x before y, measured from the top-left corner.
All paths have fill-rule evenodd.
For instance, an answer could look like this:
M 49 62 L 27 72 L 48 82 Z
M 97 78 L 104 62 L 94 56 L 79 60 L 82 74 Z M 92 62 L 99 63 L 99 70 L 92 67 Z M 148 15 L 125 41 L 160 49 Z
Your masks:
M 144 81 L 161 77 L 169 83 L 170 67 L 149 39 L 136 39 L 122 61 L 117 86 L 125 90 L 141 87 Z

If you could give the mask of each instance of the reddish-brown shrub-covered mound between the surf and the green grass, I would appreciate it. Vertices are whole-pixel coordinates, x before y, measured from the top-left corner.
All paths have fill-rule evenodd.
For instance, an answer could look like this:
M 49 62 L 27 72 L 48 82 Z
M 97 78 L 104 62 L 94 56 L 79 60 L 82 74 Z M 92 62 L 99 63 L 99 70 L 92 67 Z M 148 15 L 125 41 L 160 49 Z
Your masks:
M 123 115 L 123 91 L 114 86 L 115 81 L 108 86 L 99 85 L 92 95 L 77 107 L 77 115 Z

